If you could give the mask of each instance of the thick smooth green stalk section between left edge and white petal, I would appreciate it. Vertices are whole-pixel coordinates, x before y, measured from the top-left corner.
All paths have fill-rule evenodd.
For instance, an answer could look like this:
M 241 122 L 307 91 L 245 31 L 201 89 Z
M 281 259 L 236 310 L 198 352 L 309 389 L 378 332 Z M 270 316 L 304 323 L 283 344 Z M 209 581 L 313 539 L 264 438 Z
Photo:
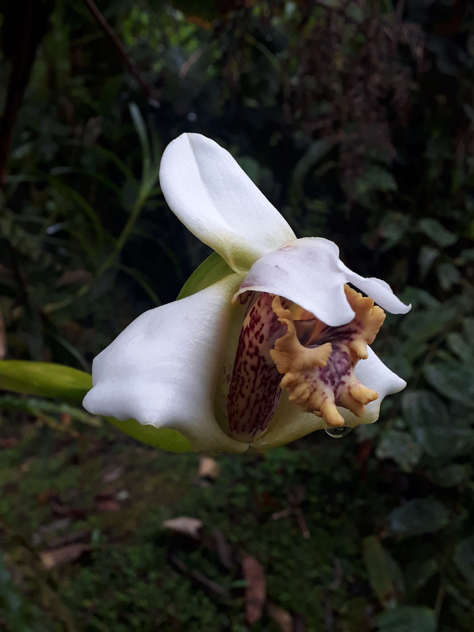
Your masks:
M 49 362 L 0 360 L 0 388 L 6 391 L 82 401 L 92 387 L 89 374 Z

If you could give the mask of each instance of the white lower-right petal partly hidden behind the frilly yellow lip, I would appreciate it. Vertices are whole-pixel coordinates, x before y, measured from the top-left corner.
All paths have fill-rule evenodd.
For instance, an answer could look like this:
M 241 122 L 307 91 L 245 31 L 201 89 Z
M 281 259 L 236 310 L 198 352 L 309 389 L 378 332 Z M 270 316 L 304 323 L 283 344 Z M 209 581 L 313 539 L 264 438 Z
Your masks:
M 365 406 L 362 417 L 356 417 L 346 408 L 337 407 L 344 417 L 348 427 L 355 427 L 364 423 L 377 421 L 380 414 L 380 404 L 387 395 L 403 391 L 406 382 L 394 374 L 375 355 L 370 347 L 367 348 L 367 360 L 360 360 L 355 367 L 355 375 L 364 386 L 374 389 L 379 393 L 379 398 Z M 257 450 L 269 450 L 274 447 L 284 446 L 290 441 L 300 439 L 314 430 L 327 428 L 320 417 L 312 413 L 303 413 L 299 408 L 288 401 L 288 392 L 284 391 L 274 418 L 270 422 L 266 434 L 258 441 L 250 444 Z

